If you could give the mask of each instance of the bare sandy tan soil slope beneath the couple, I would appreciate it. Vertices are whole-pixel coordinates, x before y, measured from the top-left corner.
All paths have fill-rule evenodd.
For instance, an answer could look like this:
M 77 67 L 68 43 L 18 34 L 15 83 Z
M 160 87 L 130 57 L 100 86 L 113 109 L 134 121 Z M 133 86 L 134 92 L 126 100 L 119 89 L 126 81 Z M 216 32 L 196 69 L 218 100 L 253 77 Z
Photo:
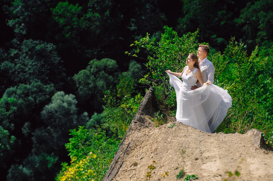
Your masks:
M 173 123 L 171 123 L 173 124 Z M 273 152 L 253 145 L 245 134 L 210 134 L 187 125 L 132 131 L 132 141 L 118 174 L 113 180 L 145 180 L 153 163 L 150 180 L 177 180 L 183 167 L 199 180 L 223 180 L 228 171 L 238 170 L 237 180 L 273 180 Z M 163 176 L 168 172 L 168 176 Z

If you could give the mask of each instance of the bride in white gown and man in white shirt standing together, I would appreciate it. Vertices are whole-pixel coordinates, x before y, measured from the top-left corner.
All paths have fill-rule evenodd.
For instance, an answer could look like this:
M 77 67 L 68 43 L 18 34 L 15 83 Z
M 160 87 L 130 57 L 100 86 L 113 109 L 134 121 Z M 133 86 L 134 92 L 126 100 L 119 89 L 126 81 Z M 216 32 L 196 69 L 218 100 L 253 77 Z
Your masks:
M 231 96 L 213 84 L 214 66 L 207 59 L 210 48 L 199 45 L 197 55 L 190 53 L 181 73 L 166 70 L 177 101 L 176 119 L 194 128 L 214 133 L 231 107 Z M 181 77 L 183 82 L 177 77 Z

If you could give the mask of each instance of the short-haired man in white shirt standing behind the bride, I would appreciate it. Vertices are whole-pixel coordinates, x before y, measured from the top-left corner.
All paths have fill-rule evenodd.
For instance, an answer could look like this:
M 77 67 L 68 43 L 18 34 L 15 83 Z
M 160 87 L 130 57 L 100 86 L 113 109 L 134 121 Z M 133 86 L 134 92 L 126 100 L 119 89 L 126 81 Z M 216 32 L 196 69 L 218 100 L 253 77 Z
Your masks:
M 214 72 L 215 68 L 211 61 L 207 59 L 207 54 L 210 52 L 210 47 L 207 45 L 199 45 L 197 56 L 199 57 L 199 66 L 200 70 L 203 75 L 204 82 L 207 82 L 208 80 L 211 81 L 213 84 L 214 82 Z M 195 86 L 191 87 L 191 90 L 197 89 L 198 87 L 201 87 L 200 82 L 198 82 Z

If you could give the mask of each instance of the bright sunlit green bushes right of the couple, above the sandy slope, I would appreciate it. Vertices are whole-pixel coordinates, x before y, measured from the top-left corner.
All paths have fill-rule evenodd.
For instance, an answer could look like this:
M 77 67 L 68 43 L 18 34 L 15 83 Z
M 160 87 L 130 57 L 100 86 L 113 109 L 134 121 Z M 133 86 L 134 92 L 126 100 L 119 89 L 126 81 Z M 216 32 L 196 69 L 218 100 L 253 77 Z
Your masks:
M 225 87 L 231 94 L 233 107 L 217 131 L 244 133 L 257 128 L 265 132 L 268 143 L 272 144 L 272 56 L 262 47 L 260 53 L 256 47 L 249 56 L 246 46 L 231 38 L 223 57 L 228 63 L 220 69 L 223 72 L 219 82 L 228 85 Z

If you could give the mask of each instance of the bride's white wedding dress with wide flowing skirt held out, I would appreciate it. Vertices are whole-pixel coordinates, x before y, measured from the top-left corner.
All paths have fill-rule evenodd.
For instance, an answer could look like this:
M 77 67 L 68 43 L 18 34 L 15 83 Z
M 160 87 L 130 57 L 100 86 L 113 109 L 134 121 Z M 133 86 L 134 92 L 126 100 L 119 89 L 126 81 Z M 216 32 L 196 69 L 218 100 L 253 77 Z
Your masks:
M 177 101 L 176 119 L 194 128 L 213 133 L 227 115 L 231 107 L 231 96 L 226 90 L 214 84 L 208 84 L 191 90 L 197 78 L 194 76 L 197 68 L 187 75 L 185 67 L 182 74 L 183 82 L 170 75 L 170 85 L 174 87 Z

